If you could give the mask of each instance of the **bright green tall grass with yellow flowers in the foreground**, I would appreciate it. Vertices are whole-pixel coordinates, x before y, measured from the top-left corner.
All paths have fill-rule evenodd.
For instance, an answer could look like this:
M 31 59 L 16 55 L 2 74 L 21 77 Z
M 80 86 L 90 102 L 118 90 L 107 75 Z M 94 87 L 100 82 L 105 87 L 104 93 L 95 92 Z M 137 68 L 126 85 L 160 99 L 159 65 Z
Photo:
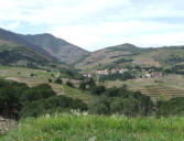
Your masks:
M 55 115 L 22 120 L 0 141 L 184 141 L 184 118 Z

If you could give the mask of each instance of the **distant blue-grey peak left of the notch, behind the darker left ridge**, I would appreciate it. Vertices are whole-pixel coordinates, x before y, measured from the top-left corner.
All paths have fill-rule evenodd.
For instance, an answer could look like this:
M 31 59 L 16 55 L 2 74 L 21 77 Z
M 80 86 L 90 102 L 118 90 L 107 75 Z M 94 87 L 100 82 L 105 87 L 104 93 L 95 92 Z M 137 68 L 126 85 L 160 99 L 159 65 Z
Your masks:
M 20 35 L 20 37 L 31 44 L 41 46 L 52 56 L 66 64 L 75 63 L 89 54 L 87 51 L 47 33 L 36 35 Z

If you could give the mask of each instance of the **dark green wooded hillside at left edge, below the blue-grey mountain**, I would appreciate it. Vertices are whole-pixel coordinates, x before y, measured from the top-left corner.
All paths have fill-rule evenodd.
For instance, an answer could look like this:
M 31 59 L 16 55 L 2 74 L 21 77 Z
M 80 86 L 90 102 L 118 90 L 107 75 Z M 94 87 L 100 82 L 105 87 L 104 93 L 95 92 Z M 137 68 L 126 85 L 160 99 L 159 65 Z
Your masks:
M 54 59 L 50 56 L 45 56 L 39 53 L 34 48 L 26 47 L 24 45 L 15 44 L 6 40 L 0 42 L 0 64 L 1 65 L 45 65 Z

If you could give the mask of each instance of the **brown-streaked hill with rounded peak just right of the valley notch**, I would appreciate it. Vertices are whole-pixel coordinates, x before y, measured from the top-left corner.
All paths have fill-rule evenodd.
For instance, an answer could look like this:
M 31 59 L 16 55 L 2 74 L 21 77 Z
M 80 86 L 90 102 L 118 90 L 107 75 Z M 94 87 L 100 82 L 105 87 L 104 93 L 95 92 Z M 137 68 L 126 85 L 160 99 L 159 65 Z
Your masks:
M 147 51 L 129 43 L 110 46 L 91 53 L 88 57 L 76 64 L 75 67 L 82 69 L 98 69 L 122 57 L 131 58 Z

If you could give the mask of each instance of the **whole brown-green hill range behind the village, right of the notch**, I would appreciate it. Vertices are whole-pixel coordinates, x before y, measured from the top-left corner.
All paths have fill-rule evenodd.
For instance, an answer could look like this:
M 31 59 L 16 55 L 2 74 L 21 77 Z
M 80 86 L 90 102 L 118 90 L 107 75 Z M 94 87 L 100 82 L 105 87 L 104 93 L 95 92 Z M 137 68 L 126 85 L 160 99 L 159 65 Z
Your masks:
M 75 67 L 93 72 L 115 67 L 171 67 L 184 64 L 184 46 L 141 48 L 132 44 L 110 46 L 91 53 Z

